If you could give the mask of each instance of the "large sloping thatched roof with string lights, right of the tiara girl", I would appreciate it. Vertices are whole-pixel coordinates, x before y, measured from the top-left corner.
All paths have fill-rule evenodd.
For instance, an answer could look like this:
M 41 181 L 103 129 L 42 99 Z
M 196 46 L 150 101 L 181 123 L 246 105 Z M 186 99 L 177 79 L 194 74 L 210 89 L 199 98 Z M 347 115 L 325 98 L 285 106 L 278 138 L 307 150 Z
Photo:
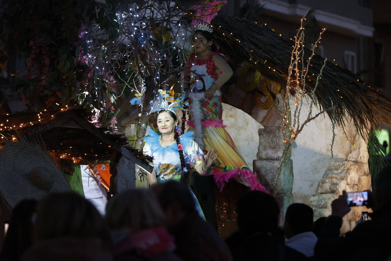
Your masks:
M 249 61 L 265 77 L 286 86 L 294 41 L 264 24 L 235 16 L 219 14 L 212 24 L 217 42 L 226 54 L 233 59 Z M 305 52 L 307 57 L 311 54 L 308 48 Z M 308 95 L 312 94 L 323 62 L 324 58 L 319 55 L 312 58 L 305 86 Z M 371 127 L 391 125 L 391 99 L 368 86 L 353 72 L 330 61 L 326 62 L 315 96 L 321 109 L 335 106 L 337 124 L 344 125 L 346 117 L 350 116 L 362 136 L 366 136 Z M 327 113 L 333 117 L 333 112 Z

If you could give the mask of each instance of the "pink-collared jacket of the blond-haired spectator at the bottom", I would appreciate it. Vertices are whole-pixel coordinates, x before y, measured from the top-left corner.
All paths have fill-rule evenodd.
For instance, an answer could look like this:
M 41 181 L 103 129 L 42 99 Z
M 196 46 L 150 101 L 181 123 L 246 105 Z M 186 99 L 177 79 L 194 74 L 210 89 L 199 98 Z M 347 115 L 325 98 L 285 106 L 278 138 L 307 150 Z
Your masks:
M 113 235 L 115 261 L 182 261 L 173 253 L 174 237 L 164 227 Z

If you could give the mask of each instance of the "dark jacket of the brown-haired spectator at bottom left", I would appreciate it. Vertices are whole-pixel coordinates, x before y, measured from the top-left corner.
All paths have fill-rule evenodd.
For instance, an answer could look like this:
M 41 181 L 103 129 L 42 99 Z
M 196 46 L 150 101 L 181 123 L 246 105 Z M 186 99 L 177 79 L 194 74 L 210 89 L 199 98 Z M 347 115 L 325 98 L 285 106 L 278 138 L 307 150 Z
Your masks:
M 41 241 L 23 254 L 21 261 L 112 261 L 98 238 L 54 238 Z

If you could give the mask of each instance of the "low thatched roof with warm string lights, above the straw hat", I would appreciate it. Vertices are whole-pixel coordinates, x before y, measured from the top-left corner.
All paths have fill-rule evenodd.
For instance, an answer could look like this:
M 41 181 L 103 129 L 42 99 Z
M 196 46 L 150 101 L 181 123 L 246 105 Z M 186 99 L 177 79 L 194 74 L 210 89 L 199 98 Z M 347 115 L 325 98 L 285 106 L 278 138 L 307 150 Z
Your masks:
M 136 164 L 148 165 L 151 158 L 132 148 L 123 133 L 97 128 L 88 121 L 90 117 L 85 110 L 67 108 L 0 115 L 0 146 L 8 141 L 26 140 L 43 145 L 53 156 L 71 164 L 108 162 L 115 150 L 125 148 L 130 152 L 126 156 L 133 157 Z

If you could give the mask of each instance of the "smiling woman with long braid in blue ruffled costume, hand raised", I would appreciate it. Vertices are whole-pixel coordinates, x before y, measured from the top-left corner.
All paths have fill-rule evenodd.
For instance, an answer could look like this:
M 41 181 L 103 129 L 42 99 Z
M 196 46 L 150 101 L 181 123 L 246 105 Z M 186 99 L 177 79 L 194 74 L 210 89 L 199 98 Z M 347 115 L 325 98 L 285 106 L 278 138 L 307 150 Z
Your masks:
M 170 109 L 160 110 L 157 116 L 157 125 L 161 135 L 150 130 L 149 135 L 144 139 L 143 153 L 153 157 L 154 166 L 152 173 L 147 174 L 149 185 L 167 180 L 187 183 L 185 173 L 190 168 L 195 169 L 201 175 L 206 174 L 217 158 L 214 150 L 209 150 L 206 155 L 203 154 L 203 151 L 192 137 L 192 131 L 181 135 L 178 122 L 178 117 L 174 111 Z M 203 216 L 195 196 L 194 200 L 197 210 Z

